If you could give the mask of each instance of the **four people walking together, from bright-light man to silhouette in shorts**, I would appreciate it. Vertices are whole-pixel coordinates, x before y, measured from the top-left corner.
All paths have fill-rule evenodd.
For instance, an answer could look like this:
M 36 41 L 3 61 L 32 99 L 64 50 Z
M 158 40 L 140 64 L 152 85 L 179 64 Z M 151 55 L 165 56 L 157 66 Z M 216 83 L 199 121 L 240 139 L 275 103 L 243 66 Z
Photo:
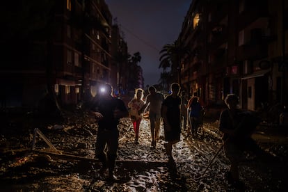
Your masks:
M 93 99 L 90 105 L 90 111 L 98 122 L 97 141 L 95 155 L 102 162 L 102 168 L 99 170 L 100 175 L 108 171 L 108 179 L 116 180 L 113 174 L 115 159 L 118 151 L 118 124 L 120 118 L 130 115 L 135 131 L 135 143 L 138 143 L 140 122 L 143 118 L 144 111 L 149 106 L 150 129 L 152 136 L 151 147 L 155 147 L 159 140 L 159 130 L 161 118 L 164 123 L 164 136 L 166 144 L 166 153 L 169 161 L 173 160 L 172 146 L 180 141 L 181 120 L 179 97 L 180 86 L 178 83 L 171 85 L 171 94 L 165 99 L 163 95 L 157 92 L 154 86 L 150 86 L 149 95 L 143 100 L 143 90 L 136 89 L 134 98 L 128 103 L 129 110 L 120 98 L 113 97 L 112 86 L 105 84 Z

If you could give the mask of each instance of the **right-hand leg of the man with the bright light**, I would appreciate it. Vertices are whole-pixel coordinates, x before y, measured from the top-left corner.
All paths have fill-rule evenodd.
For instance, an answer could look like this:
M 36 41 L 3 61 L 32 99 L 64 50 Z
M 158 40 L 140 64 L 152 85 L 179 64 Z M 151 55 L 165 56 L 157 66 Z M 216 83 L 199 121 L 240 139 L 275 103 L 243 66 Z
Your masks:
M 115 178 L 114 168 L 115 168 L 115 160 L 117 158 L 117 151 L 119 146 L 119 131 L 110 131 L 109 140 L 107 142 L 107 162 L 109 168 L 109 179 L 117 179 Z

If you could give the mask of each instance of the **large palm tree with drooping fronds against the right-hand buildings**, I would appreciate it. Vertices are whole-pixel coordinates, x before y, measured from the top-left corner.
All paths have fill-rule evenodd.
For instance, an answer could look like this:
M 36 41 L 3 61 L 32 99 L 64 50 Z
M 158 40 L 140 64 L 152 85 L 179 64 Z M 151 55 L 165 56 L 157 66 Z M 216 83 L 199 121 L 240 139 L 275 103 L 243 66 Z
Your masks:
M 186 54 L 190 54 L 189 47 L 184 46 L 180 40 L 175 40 L 173 44 L 164 45 L 160 54 L 159 68 L 163 67 L 163 69 L 166 69 L 171 67 L 173 81 L 178 81 L 181 85 L 181 61 Z

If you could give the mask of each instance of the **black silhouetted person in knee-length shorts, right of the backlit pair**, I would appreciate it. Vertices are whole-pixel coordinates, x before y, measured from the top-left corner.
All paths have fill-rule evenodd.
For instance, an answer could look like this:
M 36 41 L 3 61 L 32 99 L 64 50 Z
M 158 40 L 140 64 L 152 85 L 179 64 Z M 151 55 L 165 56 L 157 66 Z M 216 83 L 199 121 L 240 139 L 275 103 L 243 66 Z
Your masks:
M 173 163 L 172 156 L 173 145 L 180 141 L 181 134 L 181 98 L 178 96 L 180 86 L 178 83 L 172 83 L 170 86 L 172 93 L 168 95 L 162 104 L 162 117 L 164 122 L 164 147 L 168 155 L 168 162 Z

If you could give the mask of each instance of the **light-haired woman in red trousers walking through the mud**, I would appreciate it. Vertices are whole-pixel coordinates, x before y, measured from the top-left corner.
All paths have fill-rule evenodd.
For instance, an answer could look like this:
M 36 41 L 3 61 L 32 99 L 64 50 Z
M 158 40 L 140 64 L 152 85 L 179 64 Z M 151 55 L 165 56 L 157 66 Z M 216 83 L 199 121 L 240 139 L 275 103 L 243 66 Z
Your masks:
M 135 143 L 138 144 L 139 138 L 139 127 L 140 122 L 143 118 L 143 113 L 138 112 L 143 106 L 145 102 L 143 101 L 143 89 L 138 88 L 135 90 L 134 98 L 128 103 L 130 118 L 133 123 L 133 128 L 135 132 Z

